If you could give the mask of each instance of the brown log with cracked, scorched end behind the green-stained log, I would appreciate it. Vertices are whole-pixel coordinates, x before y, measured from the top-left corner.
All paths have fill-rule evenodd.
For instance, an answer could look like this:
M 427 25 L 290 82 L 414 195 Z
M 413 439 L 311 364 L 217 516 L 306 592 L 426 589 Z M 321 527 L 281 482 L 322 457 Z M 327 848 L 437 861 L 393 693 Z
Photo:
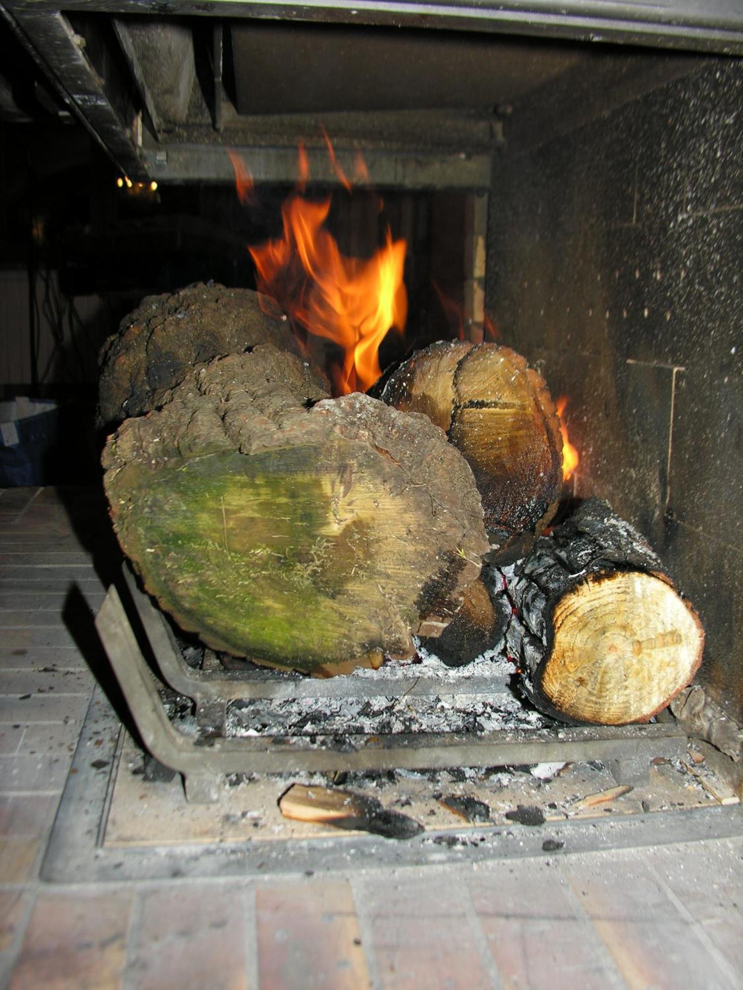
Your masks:
M 465 455 L 495 557 L 525 552 L 555 514 L 563 483 L 560 421 L 544 379 L 507 347 L 455 341 L 413 354 L 381 398 L 425 413 Z

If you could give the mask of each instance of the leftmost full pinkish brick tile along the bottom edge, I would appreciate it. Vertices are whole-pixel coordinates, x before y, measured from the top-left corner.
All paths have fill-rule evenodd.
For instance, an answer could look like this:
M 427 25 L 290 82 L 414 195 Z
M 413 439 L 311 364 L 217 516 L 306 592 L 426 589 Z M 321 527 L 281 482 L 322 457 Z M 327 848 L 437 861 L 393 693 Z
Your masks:
M 120 987 L 130 895 L 41 894 L 9 990 L 109 990 Z

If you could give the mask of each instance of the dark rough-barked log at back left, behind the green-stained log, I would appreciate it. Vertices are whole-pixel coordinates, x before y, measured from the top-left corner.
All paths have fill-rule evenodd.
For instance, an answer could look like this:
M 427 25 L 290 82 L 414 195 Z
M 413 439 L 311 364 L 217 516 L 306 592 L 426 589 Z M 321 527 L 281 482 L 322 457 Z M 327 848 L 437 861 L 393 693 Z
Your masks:
M 266 316 L 250 289 L 198 284 L 148 296 L 101 351 L 101 424 L 154 409 L 193 364 L 266 343 L 296 351 L 286 321 Z

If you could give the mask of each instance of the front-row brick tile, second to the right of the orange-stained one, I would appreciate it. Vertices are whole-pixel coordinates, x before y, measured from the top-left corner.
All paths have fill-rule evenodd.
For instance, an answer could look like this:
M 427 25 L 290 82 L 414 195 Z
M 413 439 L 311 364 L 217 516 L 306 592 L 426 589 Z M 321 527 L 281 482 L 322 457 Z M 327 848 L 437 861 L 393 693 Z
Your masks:
M 624 987 L 565 878 L 545 863 L 496 863 L 469 882 L 504 990 Z

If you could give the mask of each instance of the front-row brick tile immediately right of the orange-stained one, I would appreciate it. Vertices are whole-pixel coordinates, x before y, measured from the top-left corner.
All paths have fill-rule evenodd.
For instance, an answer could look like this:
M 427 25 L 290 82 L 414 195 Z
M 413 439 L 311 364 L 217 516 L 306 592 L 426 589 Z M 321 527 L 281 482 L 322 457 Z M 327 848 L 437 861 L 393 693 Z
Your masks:
M 365 881 L 362 891 L 383 987 L 490 987 L 459 884 L 438 876 L 384 877 Z

